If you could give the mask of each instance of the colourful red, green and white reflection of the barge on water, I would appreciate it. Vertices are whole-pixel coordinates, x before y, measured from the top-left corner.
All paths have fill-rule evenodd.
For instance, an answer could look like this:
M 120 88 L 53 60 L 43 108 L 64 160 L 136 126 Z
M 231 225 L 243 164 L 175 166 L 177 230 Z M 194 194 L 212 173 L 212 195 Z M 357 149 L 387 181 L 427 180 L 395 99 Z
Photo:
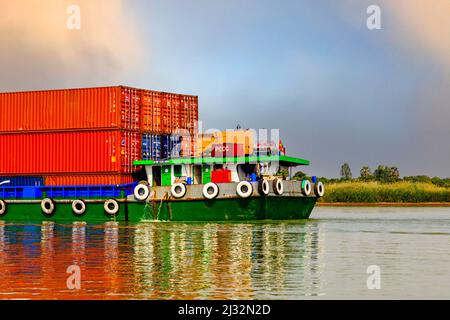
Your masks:
M 0 298 L 295 299 L 320 294 L 321 251 L 313 222 L 0 223 Z

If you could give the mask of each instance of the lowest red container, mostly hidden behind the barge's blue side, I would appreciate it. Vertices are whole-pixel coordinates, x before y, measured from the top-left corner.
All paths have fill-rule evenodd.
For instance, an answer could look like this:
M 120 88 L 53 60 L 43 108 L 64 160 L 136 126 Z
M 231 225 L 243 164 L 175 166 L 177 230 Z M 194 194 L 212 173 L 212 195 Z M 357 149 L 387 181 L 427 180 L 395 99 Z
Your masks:
M 133 183 L 131 174 L 60 174 L 44 176 L 46 186 L 118 185 Z

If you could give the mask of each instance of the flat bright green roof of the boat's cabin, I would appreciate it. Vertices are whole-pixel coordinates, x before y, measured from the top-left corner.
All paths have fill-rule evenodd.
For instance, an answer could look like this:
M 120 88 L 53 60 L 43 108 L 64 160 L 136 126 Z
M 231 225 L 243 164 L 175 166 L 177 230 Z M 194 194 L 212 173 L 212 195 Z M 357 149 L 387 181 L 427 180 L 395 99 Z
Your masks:
M 246 157 L 228 157 L 228 158 L 174 158 L 166 161 L 139 160 L 135 161 L 135 166 L 152 165 L 180 165 L 180 164 L 225 164 L 225 163 L 257 163 L 278 161 L 281 165 L 287 167 L 307 166 L 308 160 L 288 157 L 288 156 L 246 156 Z

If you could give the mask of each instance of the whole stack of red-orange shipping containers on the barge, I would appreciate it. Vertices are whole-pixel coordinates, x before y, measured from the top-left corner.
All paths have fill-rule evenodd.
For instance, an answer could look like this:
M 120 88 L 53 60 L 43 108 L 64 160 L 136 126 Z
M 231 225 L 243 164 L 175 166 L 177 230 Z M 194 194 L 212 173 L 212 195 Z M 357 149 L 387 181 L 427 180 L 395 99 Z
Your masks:
M 42 176 L 53 186 L 124 184 L 139 169 L 135 160 L 153 159 L 146 135 L 197 134 L 198 98 L 123 86 L 0 93 L 0 112 L 0 176 Z M 170 143 L 162 146 L 170 153 Z

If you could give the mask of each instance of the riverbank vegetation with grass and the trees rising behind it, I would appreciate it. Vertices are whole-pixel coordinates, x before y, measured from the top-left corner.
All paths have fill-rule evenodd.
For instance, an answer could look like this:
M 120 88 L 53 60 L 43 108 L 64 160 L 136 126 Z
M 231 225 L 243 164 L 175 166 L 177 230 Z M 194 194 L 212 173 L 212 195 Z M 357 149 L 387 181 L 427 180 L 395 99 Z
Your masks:
M 340 170 L 341 178 L 319 177 L 325 183 L 326 203 L 420 203 L 450 202 L 450 178 L 428 176 L 400 177 L 397 167 L 378 166 L 374 171 L 368 166 L 360 170 L 360 177 L 351 177 L 350 166 L 345 163 Z M 310 179 L 303 172 L 297 172 L 296 180 Z

